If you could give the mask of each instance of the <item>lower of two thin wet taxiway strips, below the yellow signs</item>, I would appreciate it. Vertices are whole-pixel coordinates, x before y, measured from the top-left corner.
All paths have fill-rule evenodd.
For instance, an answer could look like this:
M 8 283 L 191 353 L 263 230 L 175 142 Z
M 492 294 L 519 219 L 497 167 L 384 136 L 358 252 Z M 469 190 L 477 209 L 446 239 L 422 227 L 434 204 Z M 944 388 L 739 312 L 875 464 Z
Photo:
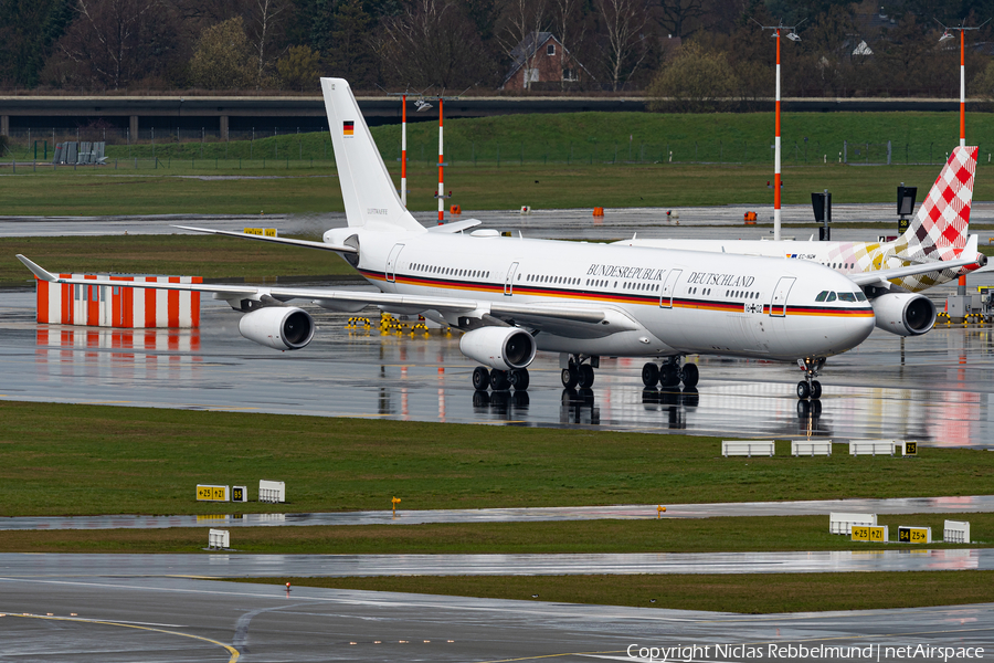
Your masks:
M 827 526 L 827 523 L 826 523 Z M 207 545 L 207 532 L 203 543 Z M 867 544 L 869 546 L 869 544 Z M 237 533 L 231 537 L 237 550 Z M 592 573 L 823 573 L 994 570 L 994 548 L 790 552 L 579 555 L 23 555 L 0 554 L 3 578 L 186 576 L 348 578 L 360 576 L 585 576 Z

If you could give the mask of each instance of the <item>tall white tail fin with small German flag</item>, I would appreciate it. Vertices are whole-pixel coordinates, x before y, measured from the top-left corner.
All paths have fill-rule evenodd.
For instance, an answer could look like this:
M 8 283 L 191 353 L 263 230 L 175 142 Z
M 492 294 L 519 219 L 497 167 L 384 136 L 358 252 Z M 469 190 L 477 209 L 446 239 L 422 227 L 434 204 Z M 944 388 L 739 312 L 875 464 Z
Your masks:
M 401 203 L 345 78 L 321 78 L 331 146 L 350 227 L 426 232 Z

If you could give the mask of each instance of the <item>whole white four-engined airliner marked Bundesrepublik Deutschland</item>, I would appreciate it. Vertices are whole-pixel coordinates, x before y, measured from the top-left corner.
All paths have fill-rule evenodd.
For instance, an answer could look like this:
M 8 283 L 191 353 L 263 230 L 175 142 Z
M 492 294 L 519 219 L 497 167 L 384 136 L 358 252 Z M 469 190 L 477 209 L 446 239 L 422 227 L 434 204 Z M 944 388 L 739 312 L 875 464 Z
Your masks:
M 818 398 L 814 378 L 825 358 L 859 345 L 874 328 L 875 312 L 860 287 L 868 282 L 816 262 L 467 232 L 476 220 L 425 229 L 401 204 L 348 83 L 321 78 L 321 87 L 348 228 L 327 231 L 322 242 L 192 230 L 331 251 L 379 292 L 166 286 L 226 301 L 243 312 L 239 329 L 250 340 L 278 350 L 307 346 L 314 320 L 288 306 L 290 299 L 342 312 L 372 304 L 463 330 L 459 348 L 483 365 L 473 371 L 478 390 L 526 389 L 528 366 L 541 350 L 560 354 L 562 383 L 570 388 L 593 385 L 602 356 L 645 357 L 646 385 L 685 387 L 698 381 L 697 366 L 683 361 L 687 355 L 797 361 L 806 370 L 799 397 Z M 99 284 L 60 278 L 18 257 L 44 281 Z

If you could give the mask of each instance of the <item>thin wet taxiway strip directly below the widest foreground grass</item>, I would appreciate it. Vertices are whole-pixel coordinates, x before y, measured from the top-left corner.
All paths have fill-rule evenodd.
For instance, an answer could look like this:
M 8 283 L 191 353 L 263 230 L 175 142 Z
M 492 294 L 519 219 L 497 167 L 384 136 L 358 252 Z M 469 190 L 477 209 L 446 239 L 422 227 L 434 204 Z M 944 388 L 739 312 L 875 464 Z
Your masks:
M 278 527 L 329 525 L 421 525 L 429 523 L 549 523 L 556 520 L 642 520 L 653 518 L 717 518 L 866 514 L 959 514 L 994 512 L 994 495 L 906 497 L 892 499 L 811 499 L 804 502 L 736 502 L 565 506 L 538 508 L 473 508 L 315 514 L 216 514 L 207 516 L 67 516 L 0 518 L 0 530 L 12 529 L 161 529 L 166 527 Z

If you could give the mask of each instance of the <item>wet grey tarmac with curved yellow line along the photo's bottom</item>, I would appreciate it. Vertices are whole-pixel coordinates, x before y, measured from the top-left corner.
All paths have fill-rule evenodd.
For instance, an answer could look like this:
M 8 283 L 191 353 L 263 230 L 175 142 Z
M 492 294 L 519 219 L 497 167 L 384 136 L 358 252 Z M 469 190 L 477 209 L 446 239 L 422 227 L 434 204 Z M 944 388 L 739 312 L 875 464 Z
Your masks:
M 990 603 L 752 615 L 65 572 L 0 578 L 0 656 L 50 663 L 658 663 L 649 648 L 667 648 L 670 661 L 890 662 L 912 657 L 897 648 L 919 645 L 970 648 L 971 660 L 986 661 L 994 652 Z M 669 649 L 678 645 L 698 649 L 680 656 Z

